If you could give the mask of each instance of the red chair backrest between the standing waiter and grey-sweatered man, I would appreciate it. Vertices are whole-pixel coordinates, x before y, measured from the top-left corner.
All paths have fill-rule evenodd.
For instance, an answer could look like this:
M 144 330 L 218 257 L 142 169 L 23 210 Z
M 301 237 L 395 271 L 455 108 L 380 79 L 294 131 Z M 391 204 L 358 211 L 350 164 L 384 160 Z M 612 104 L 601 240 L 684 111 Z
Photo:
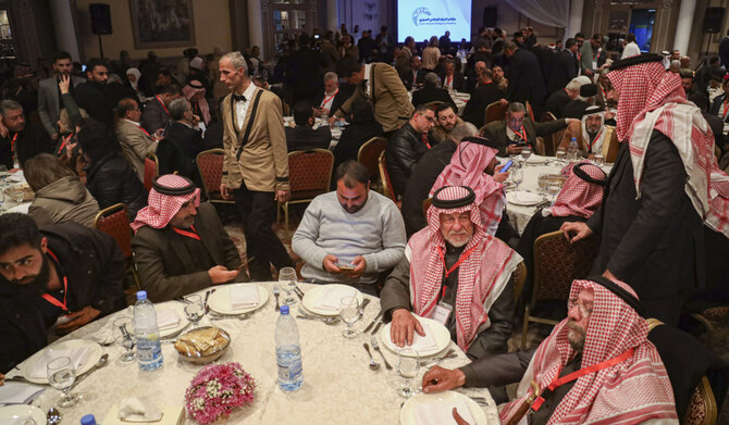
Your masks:
M 292 200 L 309 199 L 329 191 L 334 155 L 328 149 L 296 150 L 288 153 Z

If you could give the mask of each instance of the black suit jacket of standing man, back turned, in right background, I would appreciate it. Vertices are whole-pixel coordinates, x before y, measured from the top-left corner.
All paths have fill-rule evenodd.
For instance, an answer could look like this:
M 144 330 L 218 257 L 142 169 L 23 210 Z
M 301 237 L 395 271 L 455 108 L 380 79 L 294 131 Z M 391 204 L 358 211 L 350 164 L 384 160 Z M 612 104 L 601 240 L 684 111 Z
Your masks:
M 524 103 L 529 100 L 532 108 L 544 103 L 546 88 L 536 55 L 527 49 L 517 49 L 509 58 L 506 78 L 509 80 L 506 98 L 511 102 Z

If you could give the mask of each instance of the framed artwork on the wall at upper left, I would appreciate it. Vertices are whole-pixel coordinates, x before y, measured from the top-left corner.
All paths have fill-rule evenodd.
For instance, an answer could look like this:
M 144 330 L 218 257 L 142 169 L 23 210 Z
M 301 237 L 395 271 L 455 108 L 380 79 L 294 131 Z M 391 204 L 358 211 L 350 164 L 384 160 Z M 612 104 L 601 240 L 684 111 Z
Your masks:
M 195 45 L 193 0 L 129 0 L 136 49 Z

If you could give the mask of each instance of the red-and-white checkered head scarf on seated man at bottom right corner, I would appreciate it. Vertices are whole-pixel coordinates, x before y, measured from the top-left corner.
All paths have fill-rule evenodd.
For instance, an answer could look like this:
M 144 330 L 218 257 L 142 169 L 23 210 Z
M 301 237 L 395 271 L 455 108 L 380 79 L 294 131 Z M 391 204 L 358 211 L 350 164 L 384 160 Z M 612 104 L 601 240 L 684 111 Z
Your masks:
M 614 280 L 635 297 L 630 286 Z M 588 323 L 581 367 L 615 359 L 633 349 L 616 365 L 586 374 L 574 382 L 548 424 L 637 424 L 648 420 L 677 421 L 674 390 L 658 350 L 648 341 L 648 326 L 633 308 L 602 285 L 574 280 L 568 308 L 578 295 L 591 288 L 595 295 Z M 638 298 L 638 297 L 635 297 Z M 569 318 L 561 321 L 534 353 L 521 384 L 534 379 L 544 390 L 577 352 L 567 339 Z M 531 373 L 530 373 L 531 372 Z M 521 387 L 521 385 L 520 385 Z M 508 403 L 501 413 L 506 423 L 531 392 Z

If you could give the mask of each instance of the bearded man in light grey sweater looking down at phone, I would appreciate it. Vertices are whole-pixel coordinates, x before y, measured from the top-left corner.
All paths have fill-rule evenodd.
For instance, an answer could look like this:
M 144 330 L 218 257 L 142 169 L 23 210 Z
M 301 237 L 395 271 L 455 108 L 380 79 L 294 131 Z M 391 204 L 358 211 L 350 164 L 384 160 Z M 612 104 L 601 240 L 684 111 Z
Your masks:
M 336 168 L 336 191 L 309 204 L 292 238 L 306 264 L 301 275 L 317 283 L 346 283 L 375 295 L 379 274 L 405 250 L 405 224 L 395 203 L 370 190 L 369 171 L 356 161 Z

